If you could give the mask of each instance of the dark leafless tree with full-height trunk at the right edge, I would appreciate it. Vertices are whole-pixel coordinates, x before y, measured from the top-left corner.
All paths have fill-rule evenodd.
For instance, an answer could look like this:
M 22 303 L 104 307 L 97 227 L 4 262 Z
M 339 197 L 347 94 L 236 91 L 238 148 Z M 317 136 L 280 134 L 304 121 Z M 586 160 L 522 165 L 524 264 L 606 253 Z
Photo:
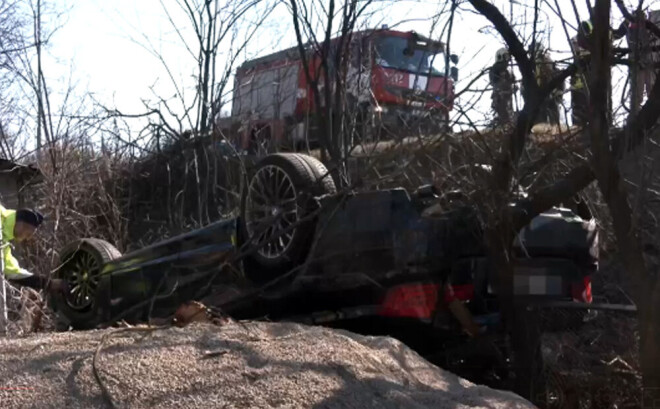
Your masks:
M 634 21 L 632 13 L 627 10 L 623 2 L 616 2 L 621 8 L 622 14 L 629 21 Z M 634 283 L 634 299 L 639 308 L 640 319 L 640 364 L 643 377 L 644 407 L 653 407 L 660 398 L 660 368 L 655 362 L 660 360 L 660 280 L 657 278 L 657 260 L 649 257 L 643 251 L 642 229 L 647 223 L 639 223 L 640 215 L 636 215 L 635 195 L 631 195 L 626 189 L 620 160 L 626 161 L 627 151 L 630 147 L 637 147 L 645 140 L 655 138 L 654 132 L 649 132 L 651 127 L 657 124 L 660 114 L 660 86 L 656 82 L 649 100 L 642 107 L 639 115 L 631 114 L 629 122 L 630 140 L 628 147 L 621 143 L 624 141 L 623 134 L 618 135 L 615 144 L 610 143 L 606 135 L 610 135 L 610 129 L 606 117 L 607 101 L 603 90 L 609 84 L 609 64 L 612 60 L 612 51 L 609 41 L 609 21 L 611 14 L 611 2 L 597 0 L 593 9 L 594 19 L 594 52 L 592 60 L 592 82 L 591 82 L 591 107 L 595 114 L 592 117 L 589 133 L 592 147 L 592 169 L 598 180 L 598 186 L 607 203 L 612 217 L 613 229 L 619 246 L 619 254 L 627 266 L 627 272 Z M 653 35 L 659 36 L 660 30 L 651 22 L 646 22 Z M 649 52 L 650 50 L 645 50 Z M 634 60 L 633 60 L 634 61 Z M 658 70 L 655 68 L 656 71 Z M 617 142 L 619 142 L 617 144 Z M 623 145 L 623 146 L 622 146 Z M 641 191 L 640 191 L 641 188 Z M 648 188 L 648 187 L 647 187 Z M 644 185 L 638 186 L 636 195 L 643 194 Z M 646 204 L 648 206 L 649 204 Z M 644 217 L 644 216 L 642 216 Z M 655 230 L 655 229 L 654 229 Z M 651 237 L 657 237 L 653 234 Z M 653 248 L 651 248 L 653 251 Z

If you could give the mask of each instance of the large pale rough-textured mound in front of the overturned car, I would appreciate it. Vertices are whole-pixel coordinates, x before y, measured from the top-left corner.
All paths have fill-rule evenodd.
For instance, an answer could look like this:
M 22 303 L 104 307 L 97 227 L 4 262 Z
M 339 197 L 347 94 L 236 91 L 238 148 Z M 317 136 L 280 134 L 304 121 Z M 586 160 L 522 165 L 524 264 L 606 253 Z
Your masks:
M 533 408 L 391 338 L 271 323 L 117 331 L 0 340 L 1 407 Z

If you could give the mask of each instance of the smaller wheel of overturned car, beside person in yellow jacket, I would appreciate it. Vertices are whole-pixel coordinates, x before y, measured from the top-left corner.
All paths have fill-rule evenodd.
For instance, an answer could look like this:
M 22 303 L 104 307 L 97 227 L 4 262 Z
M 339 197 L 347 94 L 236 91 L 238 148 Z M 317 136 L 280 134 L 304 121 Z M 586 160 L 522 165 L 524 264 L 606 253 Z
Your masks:
M 97 292 L 101 271 L 119 257 L 115 246 L 100 239 L 78 240 L 62 250 L 54 277 L 65 280 L 68 288 L 50 298 L 60 326 L 90 329 L 101 323 Z

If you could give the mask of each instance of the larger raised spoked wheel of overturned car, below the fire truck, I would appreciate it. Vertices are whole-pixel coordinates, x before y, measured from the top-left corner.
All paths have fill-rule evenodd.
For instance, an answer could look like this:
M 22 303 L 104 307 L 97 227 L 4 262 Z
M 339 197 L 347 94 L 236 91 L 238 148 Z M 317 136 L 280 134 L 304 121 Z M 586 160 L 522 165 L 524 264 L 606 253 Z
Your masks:
M 279 153 L 262 159 L 241 200 L 239 229 L 250 269 L 266 277 L 301 262 L 316 224 L 313 198 L 335 192 L 328 170 L 315 158 Z

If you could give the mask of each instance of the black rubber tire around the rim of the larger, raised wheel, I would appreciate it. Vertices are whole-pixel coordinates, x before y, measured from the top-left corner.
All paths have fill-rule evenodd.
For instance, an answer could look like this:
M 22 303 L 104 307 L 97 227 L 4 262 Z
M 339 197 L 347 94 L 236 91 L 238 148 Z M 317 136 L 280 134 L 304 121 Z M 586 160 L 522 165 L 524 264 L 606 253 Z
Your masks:
M 324 194 L 336 193 L 334 181 L 321 162 L 307 155 L 297 153 L 277 153 L 263 158 L 254 167 L 252 175 L 248 178 L 247 187 L 241 198 L 241 217 L 239 218 L 239 236 L 244 242 L 250 241 L 246 226 L 246 201 L 252 177 L 266 166 L 277 166 L 291 179 L 297 196 L 297 206 L 302 209 L 299 218 L 305 218 L 314 211 L 314 197 Z M 250 276 L 257 278 L 271 278 L 289 271 L 302 262 L 307 256 L 311 236 L 316 226 L 315 218 L 300 222 L 294 230 L 293 238 L 288 249 L 277 258 L 267 258 L 257 252 L 254 246 L 248 248 L 244 259 L 244 266 L 250 271 Z M 257 274 L 254 274 L 254 273 Z

